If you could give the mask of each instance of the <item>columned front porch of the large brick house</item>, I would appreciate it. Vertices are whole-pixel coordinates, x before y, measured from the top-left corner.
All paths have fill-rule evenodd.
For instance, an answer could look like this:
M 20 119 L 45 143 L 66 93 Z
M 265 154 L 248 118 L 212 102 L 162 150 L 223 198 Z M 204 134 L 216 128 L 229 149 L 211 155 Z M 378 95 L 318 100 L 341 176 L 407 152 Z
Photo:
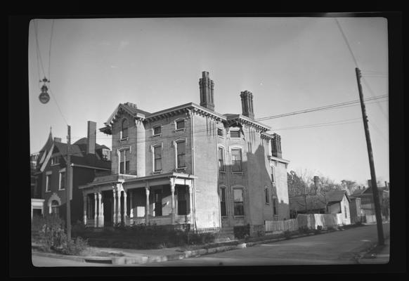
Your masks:
M 132 226 L 193 223 L 193 176 L 169 173 L 101 183 L 82 188 L 84 225 Z

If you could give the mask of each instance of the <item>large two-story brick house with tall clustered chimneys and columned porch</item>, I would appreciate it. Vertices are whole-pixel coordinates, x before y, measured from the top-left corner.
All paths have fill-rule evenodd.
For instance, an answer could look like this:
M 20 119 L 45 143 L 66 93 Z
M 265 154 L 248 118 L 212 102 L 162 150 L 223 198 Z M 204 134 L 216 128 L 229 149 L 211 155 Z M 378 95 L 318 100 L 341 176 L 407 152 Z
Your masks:
M 200 105 L 146 112 L 119 104 L 100 129 L 112 135 L 112 174 L 81 187 L 84 223 L 190 224 L 233 230 L 290 218 L 287 164 L 280 136 L 254 120 L 253 96 L 242 114 L 214 111 L 214 83 L 202 72 Z

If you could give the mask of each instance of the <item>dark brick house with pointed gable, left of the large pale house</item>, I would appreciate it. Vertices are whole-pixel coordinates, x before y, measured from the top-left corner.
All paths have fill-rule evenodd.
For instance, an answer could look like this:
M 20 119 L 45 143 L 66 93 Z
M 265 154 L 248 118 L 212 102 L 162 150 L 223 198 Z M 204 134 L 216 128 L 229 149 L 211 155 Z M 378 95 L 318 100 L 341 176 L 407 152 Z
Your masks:
M 66 218 L 66 186 L 70 185 L 71 220 L 82 221 L 82 192 L 79 185 L 93 181 L 96 173 L 109 172 L 110 150 L 96 143 L 96 122 L 88 122 L 88 137 L 70 145 L 70 178 L 67 174 L 67 143 L 53 138 L 51 131 L 46 144 L 38 153 L 34 172 L 37 198 L 32 200 L 32 209 L 40 209 L 42 214 L 58 214 Z

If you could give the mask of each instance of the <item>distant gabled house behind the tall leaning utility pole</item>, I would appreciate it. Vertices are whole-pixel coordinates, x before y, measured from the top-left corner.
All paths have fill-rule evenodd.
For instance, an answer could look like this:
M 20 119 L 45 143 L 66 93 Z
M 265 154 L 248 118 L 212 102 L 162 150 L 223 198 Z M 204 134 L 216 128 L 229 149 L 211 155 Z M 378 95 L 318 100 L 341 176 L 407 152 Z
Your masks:
M 367 222 L 375 220 L 375 204 L 373 201 L 372 187 L 359 187 L 352 194 L 353 197 L 361 199 L 361 209 Z M 389 219 L 389 206 L 385 205 L 385 200 L 389 200 L 389 185 L 378 187 L 379 204 L 381 206 L 382 220 Z

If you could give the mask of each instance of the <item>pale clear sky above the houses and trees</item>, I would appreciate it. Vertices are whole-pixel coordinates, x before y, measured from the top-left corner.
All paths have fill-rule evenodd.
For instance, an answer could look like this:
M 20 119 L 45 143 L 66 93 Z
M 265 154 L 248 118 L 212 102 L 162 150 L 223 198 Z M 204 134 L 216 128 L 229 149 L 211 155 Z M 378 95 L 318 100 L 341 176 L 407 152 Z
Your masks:
M 241 113 L 240 92 L 247 90 L 255 119 L 359 100 L 357 66 L 364 98 L 388 95 L 387 20 L 337 20 L 339 25 L 331 15 L 32 20 L 30 151 L 43 147 L 50 129 L 66 142 L 67 124 L 74 143 L 86 136 L 87 121 L 103 127 L 119 103 L 148 112 L 199 104 L 202 71 L 214 81 L 216 112 Z M 46 104 L 39 102 L 44 76 L 50 80 Z M 365 105 L 375 172 L 389 181 L 388 99 Z M 263 123 L 280 134 L 288 171 L 337 182 L 370 179 L 359 103 Z M 111 148 L 110 136 L 99 131 L 97 143 Z

